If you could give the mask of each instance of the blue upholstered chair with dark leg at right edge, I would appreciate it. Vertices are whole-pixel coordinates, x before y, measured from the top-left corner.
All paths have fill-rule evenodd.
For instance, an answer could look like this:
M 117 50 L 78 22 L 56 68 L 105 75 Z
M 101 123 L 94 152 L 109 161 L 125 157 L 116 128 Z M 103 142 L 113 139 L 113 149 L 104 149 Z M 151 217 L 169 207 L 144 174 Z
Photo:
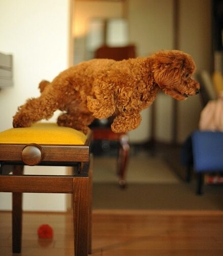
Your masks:
M 195 131 L 191 135 L 197 193 L 203 193 L 205 173 L 223 173 L 223 132 Z

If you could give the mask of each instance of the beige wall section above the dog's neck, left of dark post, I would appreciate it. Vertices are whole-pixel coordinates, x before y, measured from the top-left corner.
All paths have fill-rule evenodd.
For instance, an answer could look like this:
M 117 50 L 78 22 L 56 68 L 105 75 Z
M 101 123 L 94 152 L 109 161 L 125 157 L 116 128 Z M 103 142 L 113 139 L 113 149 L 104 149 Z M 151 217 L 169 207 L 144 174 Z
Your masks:
M 130 41 L 139 56 L 173 48 L 173 0 L 129 0 Z

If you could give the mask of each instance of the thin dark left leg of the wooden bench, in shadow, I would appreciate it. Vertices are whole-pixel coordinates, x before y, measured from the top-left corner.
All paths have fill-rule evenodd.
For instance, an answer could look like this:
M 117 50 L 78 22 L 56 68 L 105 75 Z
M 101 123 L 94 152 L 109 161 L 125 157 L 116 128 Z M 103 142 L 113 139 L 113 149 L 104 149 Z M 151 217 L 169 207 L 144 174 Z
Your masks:
M 22 175 L 23 166 L 14 166 L 13 175 Z M 12 251 L 20 253 L 22 245 L 22 193 L 12 193 Z

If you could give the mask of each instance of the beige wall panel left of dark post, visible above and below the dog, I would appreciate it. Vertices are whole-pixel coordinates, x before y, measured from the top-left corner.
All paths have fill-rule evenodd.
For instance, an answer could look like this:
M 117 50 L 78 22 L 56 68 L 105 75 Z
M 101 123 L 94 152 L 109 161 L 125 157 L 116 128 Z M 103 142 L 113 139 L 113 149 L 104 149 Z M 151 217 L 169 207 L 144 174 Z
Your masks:
M 130 42 L 136 44 L 138 56 L 149 56 L 161 49 L 173 49 L 173 0 L 128 0 Z M 155 100 L 155 138 L 171 140 L 172 99 L 159 94 Z M 142 122 L 129 132 L 132 143 L 142 143 L 150 138 L 151 107 L 142 112 Z

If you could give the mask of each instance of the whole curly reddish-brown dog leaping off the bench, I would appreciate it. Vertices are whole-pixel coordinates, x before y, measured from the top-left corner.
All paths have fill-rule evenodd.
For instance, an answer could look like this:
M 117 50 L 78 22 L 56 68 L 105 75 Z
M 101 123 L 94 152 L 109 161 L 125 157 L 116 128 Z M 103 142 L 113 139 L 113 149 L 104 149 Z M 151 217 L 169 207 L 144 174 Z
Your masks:
M 199 92 L 192 79 L 195 63 L 182 51 L 160 51 L 148 58 L 123 61 L 94 59 L 73 66 L 39 85 L 41 96 L 29 99 L 13 117 L 14 127 L 27 127 L 49 119 L 57 109 L 65 111 L 58 125 L 87 133 L 94 118 L 114 116 L 114 132 L 135 129 L 140 111 L 162 90 L 177 100 Z

